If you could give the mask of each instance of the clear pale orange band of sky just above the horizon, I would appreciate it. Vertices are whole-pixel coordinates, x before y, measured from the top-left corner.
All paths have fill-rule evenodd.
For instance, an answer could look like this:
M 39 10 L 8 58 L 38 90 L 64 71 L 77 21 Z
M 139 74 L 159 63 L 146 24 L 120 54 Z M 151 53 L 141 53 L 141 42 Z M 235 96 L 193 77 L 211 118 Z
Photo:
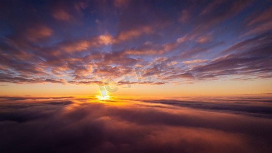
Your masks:
M 181 85 L 131 85 L 114 86 L 116 92 L 107 92 L 111 96 L 227 96 L 245 94 L 272 93 L 270 80 L 251 82 L 209 82 Z M 101 95 L 98 85 L 58 85 L 33 84 L 0 86 L 0 95 L 36 95 L 36 96 L 62 96 L 62 95 Z

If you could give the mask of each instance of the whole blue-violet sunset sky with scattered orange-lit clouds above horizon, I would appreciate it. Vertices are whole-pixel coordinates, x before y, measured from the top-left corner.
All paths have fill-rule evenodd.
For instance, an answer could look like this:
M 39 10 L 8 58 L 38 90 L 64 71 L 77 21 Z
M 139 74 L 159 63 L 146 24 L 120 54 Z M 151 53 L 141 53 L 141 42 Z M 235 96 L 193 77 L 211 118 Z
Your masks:
M 1 1 L 1 95 L 272 93 L 271 1 Z

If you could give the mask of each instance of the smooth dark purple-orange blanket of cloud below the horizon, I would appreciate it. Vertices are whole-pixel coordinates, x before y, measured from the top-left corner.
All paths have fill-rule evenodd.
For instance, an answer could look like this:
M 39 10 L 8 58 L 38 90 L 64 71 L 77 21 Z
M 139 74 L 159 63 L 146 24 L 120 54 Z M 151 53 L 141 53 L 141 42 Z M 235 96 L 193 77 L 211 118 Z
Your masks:
M 272 149 L 269 97 L 4 96 L 0 100 L 1 152 Z

